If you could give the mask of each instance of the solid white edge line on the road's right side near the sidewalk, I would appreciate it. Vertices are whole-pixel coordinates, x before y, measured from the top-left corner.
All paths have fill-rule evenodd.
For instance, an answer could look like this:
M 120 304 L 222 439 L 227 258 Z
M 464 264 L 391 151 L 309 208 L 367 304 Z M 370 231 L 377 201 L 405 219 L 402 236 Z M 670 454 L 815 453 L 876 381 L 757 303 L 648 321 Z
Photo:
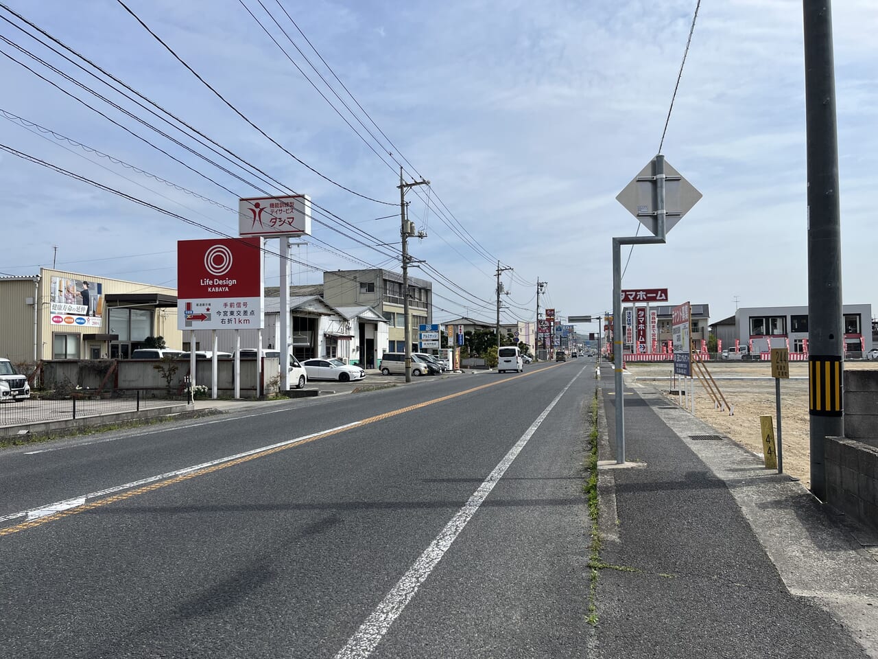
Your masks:
M 585 370 L 585 369 L 583 369 Z M 450 522 L 445 525 L 442 532 L 435 537 L 424 553 L 414 561 L 414 565 L 408 569 L 407 573 L 399 579 L 399 582 L 391 589 L 387 596 L 378 605 L 378 608 L 371 613 L 369 618 L 363 622 L 363 625 L 356 630 L 356 633 L 350 637 L 348 643 L 338 651 L 335 659 L 366 659 L 378 647 L 378 643 L 384 638 L 385 634 L 390 630 L 392 624 L 399 618 L 403 609 L 411 601 L 414 594 L 421 587 L 421 583 L 426 581 L 427 577 L 435 568 L 436 564 L 442 559 L 445 552 L 451 547 L 451 543 L 457 540 L 457 536 L 464 530 L 464 526 L 470 521 L 476 511 L 489 494 L 494 485 L 500 481 L 503 474 L 512 464 L 513 460 L 522 452 L 524 445 L 540 427 L 546 416 L 549 416 L 552 408 L 561 400 L 561 396 L 565 395 L 573 382 L 579 378 L 582 371 L 579 371 L 567 386 L 561 389 L 561 393 L 555 396 L 555 399 L 549 403 L 540 416 L 536 417 L 536 421 L 528 428 L 522 437 L 515 442 L 515 446 L 509 449 L 509 453 L 500 460 L 500 464 L 493 468 L 491 474 L 479 486 L 470 499 L 464 503 L 464 507 L 457 511 L 457 514 L 451 518 Z

